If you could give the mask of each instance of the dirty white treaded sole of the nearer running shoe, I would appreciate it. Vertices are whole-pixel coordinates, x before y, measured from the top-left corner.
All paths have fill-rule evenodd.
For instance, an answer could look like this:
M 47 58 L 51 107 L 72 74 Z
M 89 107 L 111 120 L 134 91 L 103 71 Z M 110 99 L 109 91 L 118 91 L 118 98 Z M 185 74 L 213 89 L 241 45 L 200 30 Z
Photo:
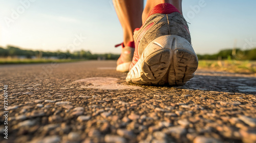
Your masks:
M 126 82 L 144 85 L 184 85 L 194 77 L 198 58 L 191 44 L 176 35 L 156 38 L 129 71 Z

